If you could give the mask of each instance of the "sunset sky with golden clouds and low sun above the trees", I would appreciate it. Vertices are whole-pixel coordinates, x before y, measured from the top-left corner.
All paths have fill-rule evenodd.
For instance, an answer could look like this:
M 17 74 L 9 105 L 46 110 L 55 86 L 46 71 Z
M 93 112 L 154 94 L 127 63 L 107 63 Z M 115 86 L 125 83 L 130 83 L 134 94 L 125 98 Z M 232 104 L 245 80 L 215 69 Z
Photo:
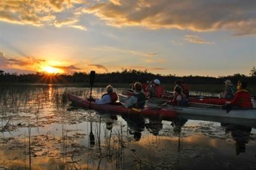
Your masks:
M 249 75 L 256 1 L 1 0 L 0 70 Z

